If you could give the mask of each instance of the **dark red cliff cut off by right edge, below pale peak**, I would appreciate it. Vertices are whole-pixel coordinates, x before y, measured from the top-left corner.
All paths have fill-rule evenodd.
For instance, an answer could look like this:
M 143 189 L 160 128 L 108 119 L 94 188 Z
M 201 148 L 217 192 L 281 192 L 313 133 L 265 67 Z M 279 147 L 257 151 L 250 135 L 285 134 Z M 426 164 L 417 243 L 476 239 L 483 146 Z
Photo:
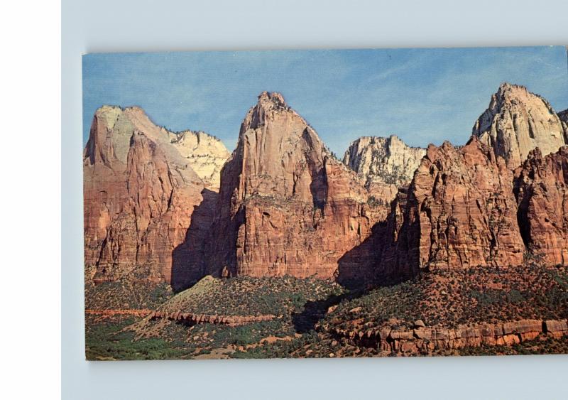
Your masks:
M 527 247 L 545 264 L 568 265 L 568 146 L 531 151 L 515 171 L 515 195 Z

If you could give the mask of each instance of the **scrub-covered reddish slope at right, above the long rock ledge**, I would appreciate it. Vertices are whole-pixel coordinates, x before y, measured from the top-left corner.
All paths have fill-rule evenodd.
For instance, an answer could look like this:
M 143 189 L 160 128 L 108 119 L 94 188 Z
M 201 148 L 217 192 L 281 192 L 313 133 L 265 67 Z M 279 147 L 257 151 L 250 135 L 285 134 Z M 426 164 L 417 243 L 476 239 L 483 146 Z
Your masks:
M 322 323 L 337 328 L 410 328 L 413 321 L 421 319 L 430 326 L 454 328 L 523 318 L 568 318 L 565 267 L 528 265 L 425 272 L 411 281 L 345 298 Z

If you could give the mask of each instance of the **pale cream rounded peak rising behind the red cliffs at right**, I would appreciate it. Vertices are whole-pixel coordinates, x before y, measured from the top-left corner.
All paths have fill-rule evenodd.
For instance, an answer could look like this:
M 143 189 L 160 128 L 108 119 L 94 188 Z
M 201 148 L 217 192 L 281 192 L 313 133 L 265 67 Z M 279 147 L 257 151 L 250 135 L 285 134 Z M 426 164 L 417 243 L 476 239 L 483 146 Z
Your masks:
M 550 104 L 526 87 L 509 83 L 493 94 L 473 134 L 505 158 L 510 169 L 520 166 L 535 147 L 546 155 L 566 143 L 564 126 Z

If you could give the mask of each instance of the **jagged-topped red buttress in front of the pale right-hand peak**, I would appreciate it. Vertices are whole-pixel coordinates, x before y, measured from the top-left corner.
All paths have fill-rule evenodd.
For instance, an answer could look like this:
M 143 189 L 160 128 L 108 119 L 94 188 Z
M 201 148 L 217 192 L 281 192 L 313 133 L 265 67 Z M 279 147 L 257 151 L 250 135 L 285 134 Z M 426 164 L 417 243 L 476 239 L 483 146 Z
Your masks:
M 402 204 L 401 204 L 402 202 Z M 513 173 L 473 136 L 463 148 L 430 145 L 405 200 L 389 217 L 387 268 L 508 266 L 523 262 Z

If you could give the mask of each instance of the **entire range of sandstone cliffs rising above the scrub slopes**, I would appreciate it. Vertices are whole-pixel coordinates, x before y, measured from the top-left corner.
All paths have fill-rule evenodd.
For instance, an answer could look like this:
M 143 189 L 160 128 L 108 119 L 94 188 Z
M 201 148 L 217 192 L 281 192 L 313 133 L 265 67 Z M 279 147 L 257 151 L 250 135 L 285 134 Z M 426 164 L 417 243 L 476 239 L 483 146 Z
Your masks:
M 532 151 L 512 171 L 532 147 L 556 146 L 558 126 L 564 132 L 556 122 L 565 113 L 547 104 L 502 85 L 469 143 L 430 146 L 390 206 L 373 201 L 278 93 L 263 92 L 246 115 L 219 195 L 191 168 L 201 139 L 183 136 L 183 153 L 180 135 L 141 109 L 102 107 L 84 153 L 85 262 L 97 266 L 97 282 L 135 276 L 175 288 L 204 274 L 349 281 L 518 265 L 528 249 L 566 264 L 565 148 Z M 209 188 L 222 153 L 200 161 Z M 371 169 L 398 171 L 391 161 Z

